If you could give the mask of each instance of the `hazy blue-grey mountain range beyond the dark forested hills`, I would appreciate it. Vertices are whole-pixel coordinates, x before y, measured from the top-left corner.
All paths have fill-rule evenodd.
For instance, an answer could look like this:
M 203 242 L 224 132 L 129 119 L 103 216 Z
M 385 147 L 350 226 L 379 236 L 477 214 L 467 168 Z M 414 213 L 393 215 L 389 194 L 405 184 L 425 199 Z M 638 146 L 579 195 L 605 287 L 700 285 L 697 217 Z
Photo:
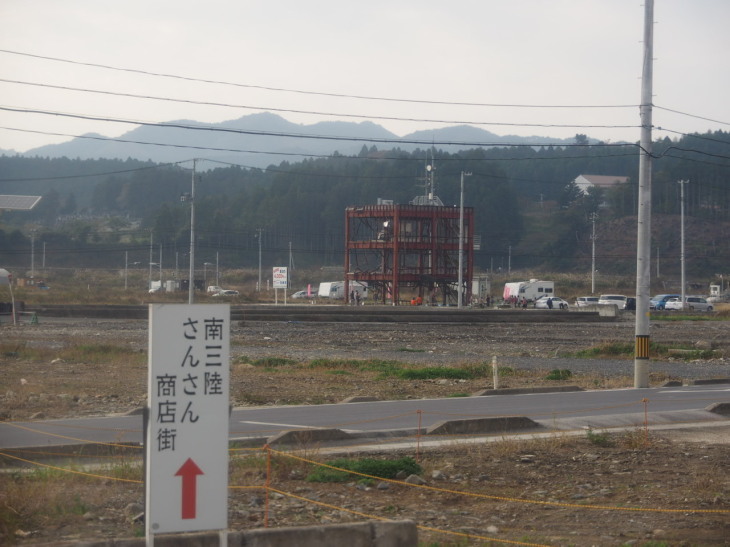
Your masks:
M 26 157 L 72 159 L 137 159 L 173 163 L 192 158 L 265 168 L 282 161 L 297 162 L 307 157 L 333 153 L 356 155 L 363 146 L 405 151 L 463 149 L 509 144 L 566 144 L 573 139 L 500 136 L 470 125 L 416 131 L 399 137 L 382 126 L 366 122 L 318 122 L 304 125 L 269 112 L 250 114 L 236 120 L 204 124 L 177 120 L 140 125 L 120 137 L 89 133 L 60 144 L 28 150 Z M 13 152 L 5 151 L 7 155 Z

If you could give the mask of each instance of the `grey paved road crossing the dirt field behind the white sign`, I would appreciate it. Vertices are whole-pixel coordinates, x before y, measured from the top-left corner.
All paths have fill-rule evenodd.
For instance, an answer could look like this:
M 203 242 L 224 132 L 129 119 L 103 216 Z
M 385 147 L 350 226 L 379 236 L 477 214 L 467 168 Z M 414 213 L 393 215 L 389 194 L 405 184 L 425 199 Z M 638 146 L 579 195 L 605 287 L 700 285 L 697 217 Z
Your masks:
M 554 429 L 639 426 L 645 403 L 650 424 L 727 420 L 707 412 L 730 403 L 728 384 L 620 389 L 449 399 L 379 401 L 315 406 L 235 409 L 231 439 L 264 439 L 282 431 L 337 428 L 358 435 L 412 433 L 437 422 L 497 416 L 527 416 Z M 141 443 L 142 416 L 112 416 L 0 423 L 0 449 L 69 444 Z

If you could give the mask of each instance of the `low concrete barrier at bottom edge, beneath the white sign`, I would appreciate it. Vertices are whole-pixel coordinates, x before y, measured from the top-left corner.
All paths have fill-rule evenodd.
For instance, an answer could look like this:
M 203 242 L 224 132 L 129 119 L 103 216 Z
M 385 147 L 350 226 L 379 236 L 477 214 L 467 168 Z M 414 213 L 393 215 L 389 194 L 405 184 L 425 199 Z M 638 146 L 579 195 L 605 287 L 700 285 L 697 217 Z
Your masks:
M 416 547 L 418 530 L 410 520 L 368 521 L 330 526 L 261 528 L 228 532 L 228 547 Z M 141 539 L 58 541 L 28 546 L 45 547 L 145 547 Z M 155 547 L 218 547 L 220 534 L 170 534 L 155 536 Z

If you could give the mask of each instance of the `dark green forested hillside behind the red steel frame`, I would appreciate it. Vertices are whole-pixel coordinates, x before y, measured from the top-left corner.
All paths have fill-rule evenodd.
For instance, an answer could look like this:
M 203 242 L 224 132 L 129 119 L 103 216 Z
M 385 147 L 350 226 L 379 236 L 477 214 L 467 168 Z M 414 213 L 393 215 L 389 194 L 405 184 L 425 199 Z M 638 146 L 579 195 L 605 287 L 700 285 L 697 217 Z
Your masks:
M 407 204 L 426 192 L 426 165 L 431 165 L 435 193 L 447 206 L 458 206 L 461 173 L 468 173 L 464 204 L 474 208 L 481 240 L 477 268 L 507 263 L 515 269 L 583 268 L 595 218 L 601 242 L 597 259 L 605 271 L 626 274 L 635 267 L 639 152 L 637 145 L 592 144 L 576 135 L 574 145 L 459 153 L 363 146 L 357 156 L 334 154 L 266 169 L 206 162 L 209 169 L 195 172 L 196 258 L 252 267 L 261 253 L 267 267 L 285 265 L 292 255 L 303 267 L 339 266 L 345 208 L 378 199 Z M 688 257 L 701 264 L 698 275 L 726 271 L 730 134 L 664 139 L 654 143 L 652 155 L 652 209 L 662 227 L 654 230 L 655 246 L 668 255 L 678 252 L 677 183 L 687 180 Z M 42 242 L 44 260 L 55 267 L 146 264 L 151 250 L 168 264 L 184 264 L 190 207 L 181 196 L 191 192 L 192 167 L 192 159 L 161 165 L 2 156 L 0 194 L 43 199 L 32 211 L 2 213 L 0 262 L 27 267 L 31 248 Z M 581 174 L 629 182 L 583 194 L 572 182 Z

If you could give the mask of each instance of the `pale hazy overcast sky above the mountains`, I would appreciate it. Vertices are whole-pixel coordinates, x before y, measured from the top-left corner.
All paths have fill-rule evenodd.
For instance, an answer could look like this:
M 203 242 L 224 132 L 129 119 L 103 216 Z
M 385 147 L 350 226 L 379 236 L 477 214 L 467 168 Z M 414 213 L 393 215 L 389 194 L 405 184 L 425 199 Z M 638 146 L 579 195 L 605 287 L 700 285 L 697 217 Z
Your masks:
M 730 130 L 730 1 L 654 20 L 654 137 Z M 638 141 L 643 24 L 641 0 L 0 0 L 0 149 L 135 127 L 7 109 Z

